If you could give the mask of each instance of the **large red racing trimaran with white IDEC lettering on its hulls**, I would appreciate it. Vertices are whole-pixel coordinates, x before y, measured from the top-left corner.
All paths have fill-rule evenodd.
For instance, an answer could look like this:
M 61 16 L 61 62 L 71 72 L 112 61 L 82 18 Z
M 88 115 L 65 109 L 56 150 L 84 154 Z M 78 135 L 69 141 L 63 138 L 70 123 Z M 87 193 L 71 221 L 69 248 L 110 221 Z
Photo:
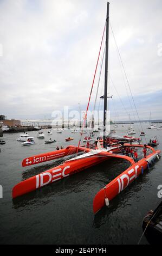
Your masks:
M 25 193 L 29 193 L 31 191 L 37 190 L 47 184 L 55 182 L 57 180 L 61 180 L 66 178 L 74 173 L 81 172 L 84 169 L 95 166 L 103 161 L 106 161 L 109 158 L 117 157 L 119 159 L 125 159 L 131 163 L 131 166 L 122 172 L 119 176 L 117 176 L 114 180 L 112 180 L 108 185 L 102 188 L 95 196 L 93 201 L 93 211 L 96 213 L 99 211 L 104 205 L 109 204 L 109 200 L 112 200 L 116 195 L 118 195 L 124 188 L 126 188 L 133 180 L 135 180 L 140 174 L 144 173 L 144 170 L 148 167 L 149 163 L 154 160 L 160 154 L 160 150 L 154 150 L 153 148 L 147 146 L 148 149 L 151 150 L 151 153 L 147 155 L 146 158 L 139 160 L 135 163 L 131 157 L 125 155 L 115 154 L 115 149 L 112 147 L 111 149 L 107 148 L 107 137 L 106 137 L 106 119 L 107 119 L 107 74 L 108 74 L 108 34 L 109 34 L 109 3 L 107 3 L 107 16 L 106 16 L 106 52 L 105 52 L 105 94 L 104 94 L 104 112 L 103 112 L 103 148 L 100 143 L 98 143 L 98 149 L 89 149 L 85 147 L 80 147 L 80 142 L 78 147 L 74 145 L 69 145 L 66 149 L 53 151 L 50 153 L 44 153 L 40 155 L 35 155 L 28 157 L 23 160 L 22 166 L 31 166 L 33 164 L 42 163 L 46 161 L 51 161 L 55 159 L 59 159 L 64 156 L 76 154 L 72 159 L 64 161 L 59 166 L 46 170 L 38 175 L 35 175 L 27 180 L 24 180 L 18 183 L 12 189 L 12 197 L 16 198 L 18 196 L 22 196 Z M 105 29 L 104 29 L 105 32 Z M 103 34 L 104 34 L 103 32 Z M 102 35 L 103 41 L 103 35 Z M 102 45 L 101 41 L 101 45 Z M 101 46 L 100 46 L 101 51 Z M 99 52 L 100 56 L 100 52 Z M 98 57 L 99 61 L 99 57 Z M 98 62 L 96 65 L 96 69 L 98 66 Z M 95 74 L 96 74 L 95 69 Z M 95 75 L 94 75 L 95 78 Z M 94 79 L 93 79 L 94 84 Z M 90 91 L 89 101 L 92 94 L 92 88 Z M 87 106 L 87 111 L 89 107 L 89 101 Z M 85 114 L 85 120 L 87 118 L 87 111 Z M 85 120 L 83 127 L 85 126 Z M 82 127 L 82 129 L 83 129 Z M 118 141 L 118 140 L 117 140 Z M 137 144 L 125 144 L 127 147 L 144 147 L 143 145 Z M 82 155 L 78 155 L 77 153 L 83 152 Z

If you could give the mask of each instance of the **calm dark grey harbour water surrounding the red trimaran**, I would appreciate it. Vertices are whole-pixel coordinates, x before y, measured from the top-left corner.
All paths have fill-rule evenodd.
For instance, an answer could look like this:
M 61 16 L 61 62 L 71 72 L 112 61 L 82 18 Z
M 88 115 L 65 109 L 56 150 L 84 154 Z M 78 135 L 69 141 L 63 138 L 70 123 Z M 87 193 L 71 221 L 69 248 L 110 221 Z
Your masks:
M 118 135 L 124 135 L 124 129 L 128 126 L 118 125 Z M 146 126 L 148 124 L 144 124 Z M 161 148 L 162 130 L 145 131 L 147 140 L 158 136 Z M 53 131 L 51 138 L 57 142 L 44 144 L 44 139 L 36 138 L 36 134 L 36 131 L 29 133 L 36 142 L 29 147 L 22 147 L 21 142 L 16 141 L 17 133 L 5 134 L 3 139 L 7 143 L 0 145 L 0 184 L 3 186 L 3 198 L 0 198 L 0 243 L 137 244 L 142 234 L 143 217 L 148 210 L 157 206 L 157 186 L 162 184 L 161 160 L 113 199 L 109 208 L 103 208 L 95 216 L 95 194 L 125 170 L 128 163 L 109 160 L 13 201 L 12 187 L 54 164 L 47 162 L 21 167 L 25 157 L 55 150 L 57 145 L 66 147 L 68 144 L 77 144 L 79 137 L 68 130 L 62 134 Z M 73 136 L 74 141 L 64 142 L 68 136 Z M 141 243 L 147 243 L 145 237 Z

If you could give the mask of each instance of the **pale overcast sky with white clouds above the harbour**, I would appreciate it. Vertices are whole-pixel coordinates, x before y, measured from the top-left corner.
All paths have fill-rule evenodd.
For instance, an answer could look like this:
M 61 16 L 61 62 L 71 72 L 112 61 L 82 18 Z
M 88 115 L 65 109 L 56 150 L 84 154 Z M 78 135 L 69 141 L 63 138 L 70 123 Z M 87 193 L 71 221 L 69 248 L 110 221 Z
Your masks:
M 162 1 L 109 2 L 111 25 L 140 118 L 148 119 L 151 111 L 152 119 L 161 119 Z M 106 0 L 0 1 L 0 114 L 51 118 L 63 106 L 77 110 L 80 102 L 82 109 L 86 107 L 106 7 Z M 109 73 L 131 113 L 111 31 Z M 127 120 L 112 83 L 109 93 L 112 118 Z

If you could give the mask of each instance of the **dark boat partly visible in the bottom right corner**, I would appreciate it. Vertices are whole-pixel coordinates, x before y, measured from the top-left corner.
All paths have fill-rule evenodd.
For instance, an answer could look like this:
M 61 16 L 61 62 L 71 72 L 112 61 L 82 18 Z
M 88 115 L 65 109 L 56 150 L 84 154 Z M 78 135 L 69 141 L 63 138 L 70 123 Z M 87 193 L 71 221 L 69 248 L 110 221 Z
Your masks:
M 162 201 L 158 207 L 148 211 L 142 223 L 145 237 L 151 245 L 160 245 L 162 241 Z

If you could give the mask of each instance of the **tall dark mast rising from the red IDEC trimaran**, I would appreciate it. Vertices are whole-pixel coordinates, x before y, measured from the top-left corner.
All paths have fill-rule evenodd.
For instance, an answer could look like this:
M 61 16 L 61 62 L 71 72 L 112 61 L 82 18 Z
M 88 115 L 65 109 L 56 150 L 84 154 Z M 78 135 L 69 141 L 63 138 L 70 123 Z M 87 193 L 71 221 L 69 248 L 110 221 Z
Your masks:
M 104 110 L 103 110 L 103 148 L 106 143 L 106 123 L 107 123 L 107 75 L 108 75 L 108 35 L 109 35 L 109 3 L 107 3 L 106 15 L 106 52 L 105 52 L 105 92 L 104 92 Z

